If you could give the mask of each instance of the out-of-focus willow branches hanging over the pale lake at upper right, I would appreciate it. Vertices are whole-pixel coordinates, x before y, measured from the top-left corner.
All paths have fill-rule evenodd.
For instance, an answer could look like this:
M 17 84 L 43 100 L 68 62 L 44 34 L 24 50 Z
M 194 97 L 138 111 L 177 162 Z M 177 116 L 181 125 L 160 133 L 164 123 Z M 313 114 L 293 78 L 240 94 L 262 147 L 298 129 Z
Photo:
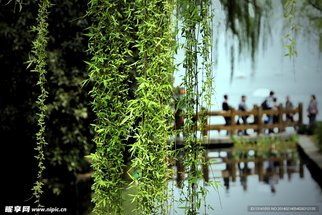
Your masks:
M 263 47 L 271 33 L 271 20 L 274 15 L 274 8 L 280 4 L 283 7 L 284 28 L 286 37 L 286 49 L 294 53 L 297 33 L 302 28 L 301 34 L 309 41 L 317 44 L 320 53 L 322 52 L 322 1 L 320 0 L 218 0 L 225 14 L 224 23 L 226 31 L 236 36 L 238 47 L 232 45 L 231 52 L 231 79 L 233 77 L 234 52 L 244 53 L 252 60 L 252 74 L 255 73 L 256 57 L 259 47 L 259 39 L 263 38 Z M 218 26 L 218 25 L 217 25 Z M 229 34 L 228 34 L 229 35 Z M 219 34 L 217 35 L 218 38 Z M 227 38 L 227 40 L 229 40 Z M 217 39 L 218 42 L 218 39 Z M 217 44 L 216 44 L 217 45 Z M 289 46 L 287 46 L 289 45 Z M 295 50 L 295 51 L 294 51 Z M 288 51 L 288 50 L 287 50 Z

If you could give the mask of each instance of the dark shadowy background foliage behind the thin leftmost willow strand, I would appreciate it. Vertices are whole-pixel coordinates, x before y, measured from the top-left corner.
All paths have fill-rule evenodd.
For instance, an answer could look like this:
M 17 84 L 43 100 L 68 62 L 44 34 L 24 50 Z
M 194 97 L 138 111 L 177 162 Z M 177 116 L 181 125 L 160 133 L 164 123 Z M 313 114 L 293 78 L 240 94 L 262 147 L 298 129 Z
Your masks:
M 14 13 L 14 3 L 0 3 L 0 63 L 1 95 L 0 117 L 1 137 L 5 145 L 4 176 L 6 206 L 36 207 L 31 199 L 31 189 L 36 182 L 38 161 L 35 134 L 38 107 L 35 103 L 40 95 L 36 85 L 38 74 L 26 70 L 32 41 L 36 32 L 29 32 L 36 25 L 38 2 L 24 1 L 22 11 Z M 66 207 L 68 214 L 80 214 L 90 210 L 91 180 L 79 180 L 82 174 L 90 172 L 90 163 L 83 156 L 93 148 L 94 132 L 90 123 L 95 119 L 88 106 L 88 91 L 91 83 L 81 89 L 79 83 L 87 78 L 83 61 L 86 55 L 87 38 L 83 29 L 89 26 L 89 19 L 73 19 L 86 14 L 87 5 L 82 1 L 52 0 L 49 11 L 49 39 L 47 52 L 46 131 L 43 172 L 45 186 L 41 205 Z M 33 56 L 30 53 L 30 58 Z

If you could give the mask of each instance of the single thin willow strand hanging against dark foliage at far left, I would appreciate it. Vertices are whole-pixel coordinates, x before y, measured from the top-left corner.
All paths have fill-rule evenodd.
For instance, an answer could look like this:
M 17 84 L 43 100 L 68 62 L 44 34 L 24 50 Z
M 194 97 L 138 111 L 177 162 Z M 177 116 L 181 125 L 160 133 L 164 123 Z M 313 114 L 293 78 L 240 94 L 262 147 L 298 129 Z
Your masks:
M 35 156 L 38 160 L 39 160 L 39 167 L 40 167 L 40 171 L 38 172 L 38 178 L 39 180 L 35 183 L 36 185 L 33 186 L 34 190 L 34 195 L 36 196 L 37 200 L 35 201 L 35 203 L 38 203 L 38 208 L 39 207 L 43 207 L 40 205 L 40 194 L 43 193 L 42 191 L 42 185 L 43 184 L 43 169 L 45 169 L 44 165 L 43 165 L 43 160 L 44 158 L 44 154 L 43 154 L 43 147 L 45 145 L 47 145 L 47 143 L 45 142 L 44 139 L 44 132 L 45 132 L 45 122 L 44 122 L 44 112 L 46 111 L 46 105 L 44 104 L 44 101 L 46 100 L 46 97 L 48 92 L 45 90 L 44 88 L 44 84 L 47 81 L 45 79 L 45 74 L 47 73 L 47 71 L 44 69 L 45 66 L 47 65 L 45 62 L 45 59 L 47 58 L 47 54 L 45 52 L 45 46 L 47 44 L 47 40 L 48 39 L 46 37 L 46 35 L 48 34 L 47 31 L 47 27 L 48 27 L 48 23 L 47 18 L 48 18 L 48 14 L 49 12 L 47 11 L 47 8 L 50 7 L 50 1 L 49 0 L 41 0 L 39 3 L 39 10 L 38 10 L 38 17 L 36 18 L 37 20 L 37 27 L 33 26 L 32 27 L 32 31 L 37 31 L 38 32 L 38 38 L 35 42 L 33 42 L 33 49 L 35 49 L 34 51 L 32 51 L 35 55 L 33 60 L 27 61 L 27 63 L 29 63 L 28 67 L 30 67 L 30 65 L 34 62 L 36 63 L 36 67 L 34 70 L 34 72 L 38 72 L 39 75 L 39 81 L 37 82 L 37 85 L 40 85 L 41 87 L 41 95 L 38 96 L 38 100 L 36 103 L 39 105 L 39 110 L 40 110 L 40 114 L 37 114 L 39 116 L 38 119 L 38 126 L 40 126 L 40 130 L 39 132 L 36 134 L 37 136 L 37 148 L 35 148 L 36 150 L 39 151 L 39 155 Z M 27 67 L 27 69 L 28 69 Z

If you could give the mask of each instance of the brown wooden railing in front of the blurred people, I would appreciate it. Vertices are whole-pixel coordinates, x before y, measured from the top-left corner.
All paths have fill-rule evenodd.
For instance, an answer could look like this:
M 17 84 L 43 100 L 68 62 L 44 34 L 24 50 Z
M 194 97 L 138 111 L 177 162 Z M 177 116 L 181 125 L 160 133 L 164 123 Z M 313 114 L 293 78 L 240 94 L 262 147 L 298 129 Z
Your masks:
M 283 121 L 283 114 L 296 114 L 298 113 L 298 121 L 294 122 L 287 122 Z M 262 123 L 262 116 L 263 114 L 266 114 L 267 116 L 269 115 L 278 115 L 278 123 L 275 124 L 264 124 Z M 209 111 L 208 112 L 209 116 L 223 116 L 223 117 L 230 117 L 231 118 L 231 125 L 208 125 L 208 123 L 205 123 L 205 127 L 203 130 L 204 136 L 208 136 L 208 131 L 209 130 L 228 130 L 231 131 L 232 134 L 235 134 L 236 130 L 246 130 L 246 129 L 254 129 L 254 131 L 257 131 L 258 134 L 262 132 L 263 128 L 279 128 L 279 132 L 282 132 L 285 130 L 286 127 L 289 126 L 299 126 L 303 123 L 303 104 L 299 103 L 298 107 L 296 109 L 292 110 L 286 110 L 283 108 L 282 104 L 279 104 L 277 110 L 262 110 L 262 107 L 257 107 L 257 105 L 254 105 L 254 108 L 251 111 L 236 111 L 234 108 L 230 112 L 228 111 Z M 254 122 L 244 125 L 240 124 L 237 125 L 235 123 L 235 116 L 249 116 L 253 115 L 254 116 Z

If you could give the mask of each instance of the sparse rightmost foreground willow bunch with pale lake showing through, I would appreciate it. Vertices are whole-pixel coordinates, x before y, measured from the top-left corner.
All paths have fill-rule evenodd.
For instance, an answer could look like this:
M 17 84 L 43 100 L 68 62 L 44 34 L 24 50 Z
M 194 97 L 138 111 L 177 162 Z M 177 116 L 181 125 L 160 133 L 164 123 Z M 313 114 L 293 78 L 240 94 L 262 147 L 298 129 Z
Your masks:
M 208 0 L 178 1 L 178 14 L 182 20 L 181 33 L 185 42 L 179 44 L 185 47 L 185 76 L 183 76 L 183 86 L 186 95 L 181 99 L 184 107 L 183 117 L 186 118 L 184 131 L 184 180 L 179 203 L 185 209 L 185 214 L 198 214 L 200 207 L 211 208 L 206 205 L 205 197 L 208 192 L 204 185 L 203 169 L 209 165 L 203 156 L 201 136 L 197 136 L 197 131 L 203 133 L 205 122 L 208 118 L 207 108 L 211 105 L 213 89 L 213 60 L 212 60 L 212 19 L 213 10 Z M 201 62 L 199 62 L 201 60 Z M 181 64 L 181 63 L 180 63 Z M 202 83 L 202 88 L 198 88 L 198 83 Z M 203 107 L 206 105 L 207 108 Z M 205 137 L 205 136 L 204 136 Z M 208 182 L 209 185 L 216 186 L 220 182 Z M 206 212 L 205 212 L 206 213 Z

